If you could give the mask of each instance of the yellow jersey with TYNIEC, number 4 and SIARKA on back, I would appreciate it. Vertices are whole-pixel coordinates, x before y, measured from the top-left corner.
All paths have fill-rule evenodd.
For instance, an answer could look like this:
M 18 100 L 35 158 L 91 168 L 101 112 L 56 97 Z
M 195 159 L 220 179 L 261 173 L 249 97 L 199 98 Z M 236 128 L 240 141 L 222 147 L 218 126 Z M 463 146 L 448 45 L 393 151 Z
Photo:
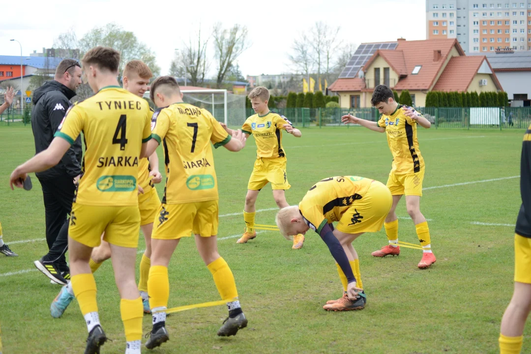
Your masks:
M 83 132 L 84 172 L 74 201 L 82 205 L 138 205 L 139 156 L 151 137 L 148 102 L 118 86 L 68 108 L 55 136 L 73 143 Z

